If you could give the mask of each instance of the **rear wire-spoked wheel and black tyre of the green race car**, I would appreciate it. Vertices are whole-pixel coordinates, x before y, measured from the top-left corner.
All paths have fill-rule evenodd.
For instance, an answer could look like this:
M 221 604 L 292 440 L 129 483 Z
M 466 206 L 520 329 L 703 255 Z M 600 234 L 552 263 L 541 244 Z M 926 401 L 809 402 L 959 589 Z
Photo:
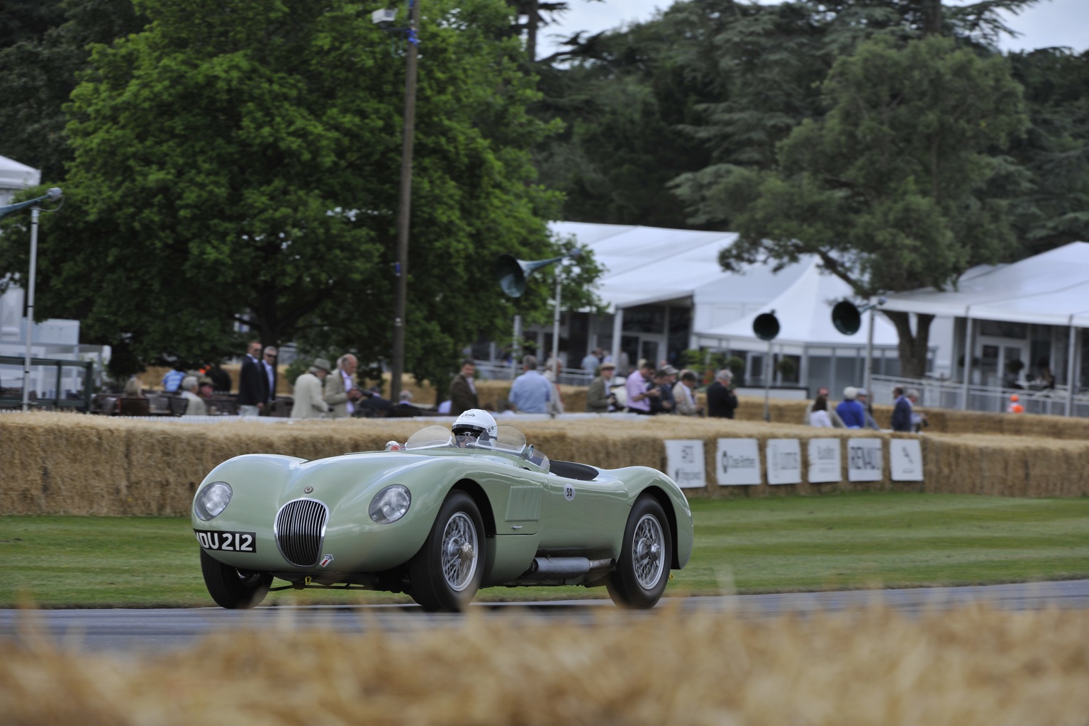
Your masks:
M 647 534 L 652 534 L 650 539 Z M 643 543 L 640 546 L 639 542 Z M 647 549 L 657 544 L 657 553 Z M 637 562 L 638 559 L 638 562 Z M 621 607 L 646 610 L 658 604 L 670 579 L 673 562 L 673 538 L 670 520 L 662 505 L 653 496 L 636 500 L 624 527 L 624 545 L 621 547 L 616 569 L 605 578 L 609 596 Z M 647 571 L 649 569 L 649 573 Z M 637 574 L 641 571 L 640 576 Z

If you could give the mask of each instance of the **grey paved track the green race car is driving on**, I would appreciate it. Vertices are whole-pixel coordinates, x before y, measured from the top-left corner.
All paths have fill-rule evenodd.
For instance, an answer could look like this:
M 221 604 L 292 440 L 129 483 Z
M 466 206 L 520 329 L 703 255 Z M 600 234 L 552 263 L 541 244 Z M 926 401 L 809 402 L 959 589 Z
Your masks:
M 693 611 L 733 611 L 743 617 L 771 617 L 785 613 L 836 612 L 872 602 L 883 602 L 908 613 L 918 613 L 928 608 L 947 610 L 977 601 L 1008 610 L 1039 610 L 1049 606 L 1086 610 L 1089 608 L 1089 580 L 970 588 L 666 599 L 659 607 L 676 604 Z M 540 625 L 556 620 L 600 622 L 598 616 L 614 610 L 608 600 L 480 603 L 474 605 L 474 608 L 487 613 L 489 617 L 517 615 Z M 192 644 L 216 630 L 238 627 L 325 627 L 343 632 L 363 632 L 380 627 L 397 631 L 448 627 L 461 619 L 457 615 L 426 614 L 415 605 L 280 606 L 241 612 L 219 607 L 52 610 L 25 613 L 0 610 L 0 638 L 17 637 L 20 630 L 26 628 L 27 620 L 30 620 L 44 626 L 65 647 L 89 651 L 160 651 Z

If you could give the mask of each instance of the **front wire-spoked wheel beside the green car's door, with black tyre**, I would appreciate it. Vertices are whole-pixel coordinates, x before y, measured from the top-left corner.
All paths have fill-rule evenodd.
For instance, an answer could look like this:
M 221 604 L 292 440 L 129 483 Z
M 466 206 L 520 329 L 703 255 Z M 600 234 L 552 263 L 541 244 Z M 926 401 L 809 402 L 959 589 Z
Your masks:
M 472 534 L 475 544 L 462 537 L 465 533 Z M 457 545 L 457 542 L 469 544 L 469 551 L 465 551 L 468 557 L 453 551 L 445 554 L 448 558 L 463 559 L 464 566 L 470 571 L 466 574 L 458 566 L 457 573 L 466 577 L 455 574 L 454 579 L 463 581 L 451 583 L 443 569 L 443 550 L 444 544 Z M 428 612 L 460 613 L 473 602 L 480 589 L 484 563 L 485 534 L 480 509 L 472 496 L 454 490 L 442 503 L 424 546 L 408 562 L 408 579 L 412 582 L 409 594 Z

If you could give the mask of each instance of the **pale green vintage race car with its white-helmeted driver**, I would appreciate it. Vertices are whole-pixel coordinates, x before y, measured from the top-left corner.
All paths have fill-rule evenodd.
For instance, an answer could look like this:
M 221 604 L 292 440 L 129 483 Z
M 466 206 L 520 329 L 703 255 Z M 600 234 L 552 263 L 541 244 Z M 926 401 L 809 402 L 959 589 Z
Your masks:
M 652 607 L 692 555 L 681 489 L 647 467 L 550 462 L 482 410 L 386 451 L 308 462 L 247 454 L 193 501 L 212 600 L 252 607 L 287 588 L 406 592 L 461 611 L 482 587 L 605 586 Z

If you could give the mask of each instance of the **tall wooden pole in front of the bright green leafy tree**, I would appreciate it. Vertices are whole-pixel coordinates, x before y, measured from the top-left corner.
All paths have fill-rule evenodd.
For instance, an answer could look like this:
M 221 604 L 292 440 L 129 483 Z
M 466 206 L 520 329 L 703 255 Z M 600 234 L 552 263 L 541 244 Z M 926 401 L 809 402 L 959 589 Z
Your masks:
M 405 367 L 405 316 L 408 307 L 408 221 L 412 211 L 412 150 L 416 132 L 416 28 L 419 26 L 420 0 L 408 2 L 408 58 L 405 61 L 404 143 L 401 151 L 401 193 L 397 202 L 396 291 L 393 303 L 393 369 L 390 371 L 390 398 L 401 391 Z

